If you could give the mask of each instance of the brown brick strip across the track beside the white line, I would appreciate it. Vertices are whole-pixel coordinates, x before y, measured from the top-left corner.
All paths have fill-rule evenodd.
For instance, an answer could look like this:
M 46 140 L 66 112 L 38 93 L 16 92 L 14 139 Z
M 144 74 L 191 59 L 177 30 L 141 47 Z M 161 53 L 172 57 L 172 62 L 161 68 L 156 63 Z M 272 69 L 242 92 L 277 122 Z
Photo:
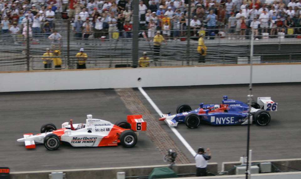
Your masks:
M 142 115 L 143 120 L 147 122 L 146 135 L 163 156 L 167 154 L 169 149 L 172 149 L 177 152 L 175 163 L 191 163 L 172 138 L 170 138 L 168 133 L 160 126 L 158 119 L 150 113 L 132 88 L 117 88 L 114 90 L 132 115 Z

